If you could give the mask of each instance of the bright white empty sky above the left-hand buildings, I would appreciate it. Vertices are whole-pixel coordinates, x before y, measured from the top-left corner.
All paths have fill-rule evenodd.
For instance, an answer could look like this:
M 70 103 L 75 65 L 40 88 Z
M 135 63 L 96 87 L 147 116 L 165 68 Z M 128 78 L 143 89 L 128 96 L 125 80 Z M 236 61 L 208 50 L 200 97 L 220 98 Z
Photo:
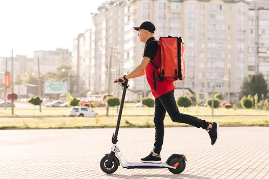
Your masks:
M 0 1 L 0 57 L 27 55 L 37 50 L 72 51 L 77 34 L 91 26 L 91 12 L 106 0 Z

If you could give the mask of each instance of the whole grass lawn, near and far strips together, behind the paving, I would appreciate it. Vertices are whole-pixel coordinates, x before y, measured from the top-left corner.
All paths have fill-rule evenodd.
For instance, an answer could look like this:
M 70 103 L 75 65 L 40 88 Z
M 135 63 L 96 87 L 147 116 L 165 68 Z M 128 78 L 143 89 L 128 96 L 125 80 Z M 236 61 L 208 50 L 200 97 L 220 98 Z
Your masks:
M 15 115 L 11 115 L 11 109 L 0 108 L 0 129 L 8 128 L 86 128 L 86 127 L 115 127 L 117 121 L 116 107 L 110 108 L 109 117 L 106 117 L 106 108 L 95 108 L 99 117 L 68 117 L 69 107 L 43 107 L 42 113 L 36 106 L 35 118 L 33 108 L 15 108 Z M 214 109 L 211 116 L 210 107 L 179 108 L 181 113 L 197 116 L 207 121 L 217 121 L 222 126 L 269 126 L 269 111 L 252 109 Z M 126 106 L 122 111 L 122 127 L 154 127 L 154 108 Z M 170 117 L 165 117 L 165 126 L 187 126 L 174 123 Z

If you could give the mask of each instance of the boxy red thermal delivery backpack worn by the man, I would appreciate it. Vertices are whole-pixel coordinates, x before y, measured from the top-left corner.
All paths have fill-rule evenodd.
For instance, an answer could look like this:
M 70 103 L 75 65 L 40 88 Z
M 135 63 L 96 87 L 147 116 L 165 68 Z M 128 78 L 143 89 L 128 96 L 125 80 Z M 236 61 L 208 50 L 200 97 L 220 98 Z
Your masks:
M 184 42 L 181 37 L 160 37 L 155 40 L 159 46 L 153 60 L 150 61 L 158 71 L 157 80 L 171 82 L 185 78 Z M 160 54 L 159 54 L 160 53 Z M 153 72 L 154 74 L 154 72 Z M 154 76 L 154 88 L 156 89 Z

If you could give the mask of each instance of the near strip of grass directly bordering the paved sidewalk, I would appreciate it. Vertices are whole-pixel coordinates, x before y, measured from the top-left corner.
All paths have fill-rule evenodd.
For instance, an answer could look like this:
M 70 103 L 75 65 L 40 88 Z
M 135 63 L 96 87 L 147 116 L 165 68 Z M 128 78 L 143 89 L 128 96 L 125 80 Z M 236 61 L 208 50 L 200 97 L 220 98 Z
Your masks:
M 219 122 L 222 126 L 269 126 L 269 116 L 200 116 L 207 121 Z M 115 127 L 117 117 L 100 116 L 96 118 L 87 117 L 50 117 L 50 118 L 0 118 L 0 129 L 8 128 L 94 128 Z M 174 123 L 167 116 L 164 119 L 165 126 L 188 126 L 186 124 Z M 153 117 L 123 116 L 122 127 L 154 127 Z

